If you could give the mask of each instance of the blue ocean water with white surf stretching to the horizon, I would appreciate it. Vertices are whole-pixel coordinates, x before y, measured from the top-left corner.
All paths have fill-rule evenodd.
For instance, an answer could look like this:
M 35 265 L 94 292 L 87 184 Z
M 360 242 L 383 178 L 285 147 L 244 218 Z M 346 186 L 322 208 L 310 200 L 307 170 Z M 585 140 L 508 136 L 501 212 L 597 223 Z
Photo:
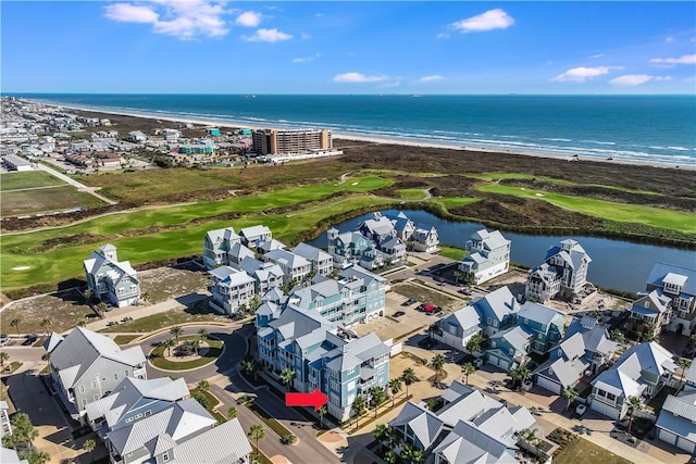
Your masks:
M 696 166 L 695 96 L 22 95 L 46 102 L 312 127 L 452 147 Z

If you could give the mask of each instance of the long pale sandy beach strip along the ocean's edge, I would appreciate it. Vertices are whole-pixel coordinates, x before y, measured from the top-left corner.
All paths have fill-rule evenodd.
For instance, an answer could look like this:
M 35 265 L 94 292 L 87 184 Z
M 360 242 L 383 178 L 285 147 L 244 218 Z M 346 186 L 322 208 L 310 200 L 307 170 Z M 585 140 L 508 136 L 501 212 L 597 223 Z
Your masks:
M 44 102 L 39 100 L 33 99 L 23 99 L 26 101 L 30 101 L 34 103 L 44 104 L 52 108 L 64 108 L 75 111 L 84 111 L 89 113 L 99 113 L 104 115 L 117 115 L 117 116 L 129 116 L 129 117 L 140 117 L 146 120 L 154 120 L 154 121 L 166 121 L 172 123 L 184 123 L 184 124 L 195 124 L 195 125 L 204 125 L 204 126 L 217 126 L 217 127 L 228 127 L 228 128 L 249 128 L 249 129 L 264 129 L 269 127 L 273 127 L 270 125 L 253 125 L 241 123 L 234 120 L 214 120 L 214 118 L 206 118 L 201 117 L 184 117 L 184 116 L 173 116 L 171 114 L 153 114 L 153 113 L 138 113 L 138 112 L 129 112 L 122 111 L 115 109 L 95 109 L 89 106 L 79 106 L 73 104 L 62 104 L 54 102 Z M 299 125 L 297 126 L 299 127 Z M 655 167 L 662 170 L 680 170 L 680 171 L 696 171 L 696 164 L 673 164 L 673 163 L 664 163 L 664 162 L 649 162 L 649 161 L 638 161 L 638 160 L 617 160 L 617 159 L 606 159 L 601 156 L 592 156 L 592 155 L 569 155 L 564 153 L 552 153 L 552 152 L 533 152 L 533 151 L 524 151 L 524 150 L 507 150 L 495 147 L 468 147 L 461 146 L 457 143 L 444 143 L 444 142 L 435 142 L 428 140 L 413 140 L 409 138 L 397 138 L 397 137 L 380 137 L 373 136 L 369 134 L 350 134 L 350 133 L 336 133 L 332 130 L 332 138 L 337 140 L 352 140 L 352 141 L 362 141 L 369 143 L 380 143 L 380 145 L 393 145 L 393 146 L 401 146 L 401 147 L 414 147 L 414 148 L 435 148 L 443 150 L 453 150 L 453 151 L 465 151 L 471 153 L 487 153 L 487 154 L 506 154 L 506 155 L 520 155 L 520 156 L 533 156 L 539 159 L 551 159 L 559 161 L 568 161 L 568 162 L 597 162 L 597 163 L 608 163 L 608 164 L 620 164 L 620 165 L 629 165 L 629 166 L 641 166 L 641 167 Z

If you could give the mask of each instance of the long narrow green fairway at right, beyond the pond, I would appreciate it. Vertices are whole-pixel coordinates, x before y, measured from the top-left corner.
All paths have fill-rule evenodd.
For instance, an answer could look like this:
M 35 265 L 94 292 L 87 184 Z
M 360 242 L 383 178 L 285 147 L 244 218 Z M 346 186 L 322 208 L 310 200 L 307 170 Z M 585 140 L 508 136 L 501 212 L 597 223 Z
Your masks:
M 544 200 L 560 208 L 611 221 L 646 224 L 652 227 L 680 230 L 688 234 L 696 233 L 696 215 L 682 211 L 639 204 L 617 203 L 585 197 L 572 197 L 513 186 L 483 185 L 476 187 L 476 189 L 488 193 L 511 195 L 514 197 Z

